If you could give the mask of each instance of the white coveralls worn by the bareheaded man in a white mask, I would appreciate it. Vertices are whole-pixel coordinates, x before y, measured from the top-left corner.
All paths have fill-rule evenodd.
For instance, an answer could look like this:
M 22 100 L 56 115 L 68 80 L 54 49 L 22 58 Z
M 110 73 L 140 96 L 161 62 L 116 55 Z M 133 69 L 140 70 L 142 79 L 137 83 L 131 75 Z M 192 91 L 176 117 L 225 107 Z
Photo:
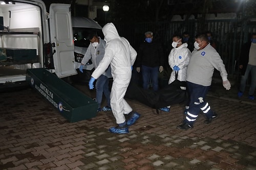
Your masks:
M 180 70 L 178 71 L 178 80 L 179 81 L 186 81 L 186 73 L 187 73 L 187 65 L 189 63 L 189 59 L 191 57 L 191 52 L 187 48 L 187 43 L 183 43 L 181 46 L 177 48 L 173 48 L 170 51 L 168 62 L 170 68 L 173 69 L 175 65 L 177 65 Z M 168 84 L 175 81 L 175 70 L 172 71 L 170 74 Z

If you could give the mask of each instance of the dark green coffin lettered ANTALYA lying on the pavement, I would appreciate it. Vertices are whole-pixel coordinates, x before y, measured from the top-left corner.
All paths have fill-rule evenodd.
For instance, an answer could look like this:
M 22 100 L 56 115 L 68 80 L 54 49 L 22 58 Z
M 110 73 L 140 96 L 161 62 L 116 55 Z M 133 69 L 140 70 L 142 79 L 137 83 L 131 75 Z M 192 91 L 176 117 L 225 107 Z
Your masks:
M 71 123 L 97 115 L 94 100 L 44 68 L 27 69 L 26 81 Z

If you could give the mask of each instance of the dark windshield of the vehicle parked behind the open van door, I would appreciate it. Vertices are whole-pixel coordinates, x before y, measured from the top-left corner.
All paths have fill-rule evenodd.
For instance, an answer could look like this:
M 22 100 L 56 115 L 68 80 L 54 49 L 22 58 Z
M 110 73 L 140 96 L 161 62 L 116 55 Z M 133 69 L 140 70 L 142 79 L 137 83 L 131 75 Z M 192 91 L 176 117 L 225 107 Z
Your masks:
M 104 35 L 100 29 L 73 27 L 74 45 L 88 47 L 90 45 L 89 35 L 92 32 L 97 32 L 98 36 L 104 39 Z

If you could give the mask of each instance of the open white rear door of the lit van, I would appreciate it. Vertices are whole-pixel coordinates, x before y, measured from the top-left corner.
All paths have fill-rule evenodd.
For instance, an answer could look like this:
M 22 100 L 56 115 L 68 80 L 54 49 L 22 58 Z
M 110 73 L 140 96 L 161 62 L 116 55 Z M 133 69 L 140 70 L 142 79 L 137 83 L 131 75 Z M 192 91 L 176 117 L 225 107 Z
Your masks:
M 70 5 L 51 4 L 49 12 L 55 73 L 59 78 L 76 75 Z

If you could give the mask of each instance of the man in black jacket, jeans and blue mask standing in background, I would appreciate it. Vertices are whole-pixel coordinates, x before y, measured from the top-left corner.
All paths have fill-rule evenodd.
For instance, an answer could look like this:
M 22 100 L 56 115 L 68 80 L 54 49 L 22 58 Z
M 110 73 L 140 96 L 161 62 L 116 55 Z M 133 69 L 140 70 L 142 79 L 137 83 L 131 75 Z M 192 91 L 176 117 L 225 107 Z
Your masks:
M 153 32 L 145 33 L 145 41 L 140 45 L 136 59 L 136 70 L 142 72 L 143 88 L 148 89 L 150 80 L 153 90 L 158 90 L 158 74 L 163 71 L 164 56 L 162 46 L 153 39 Z

